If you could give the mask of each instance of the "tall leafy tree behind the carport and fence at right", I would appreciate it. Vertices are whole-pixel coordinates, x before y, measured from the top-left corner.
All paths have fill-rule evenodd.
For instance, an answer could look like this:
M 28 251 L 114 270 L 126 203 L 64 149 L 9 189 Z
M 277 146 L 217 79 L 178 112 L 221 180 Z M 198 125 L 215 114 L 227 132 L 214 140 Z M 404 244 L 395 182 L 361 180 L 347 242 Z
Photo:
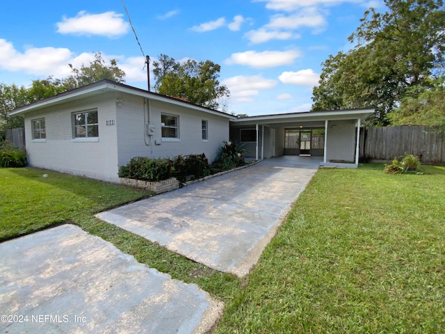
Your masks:
M 350 35 L 355 47 L 323 63 L 313 110 L 374 106 L 374 123 L 401 105 L 413 86 L 428 87 L 444 65 L 442 0 L 385 0 L 387 12 L 371 8 Z

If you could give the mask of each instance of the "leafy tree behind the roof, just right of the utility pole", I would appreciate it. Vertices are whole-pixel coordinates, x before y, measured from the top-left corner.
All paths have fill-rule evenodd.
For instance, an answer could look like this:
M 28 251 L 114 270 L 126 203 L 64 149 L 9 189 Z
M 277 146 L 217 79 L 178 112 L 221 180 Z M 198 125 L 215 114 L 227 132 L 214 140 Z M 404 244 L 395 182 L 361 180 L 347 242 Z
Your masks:
M 211 109 L 223 107 L 220 101 L 230 95 L 220 86 L 220 65 L 212 61 L 188 60 L 183 64 L 161 54 L 154 62 L 155 88 L 158 93 L 177 97 Z

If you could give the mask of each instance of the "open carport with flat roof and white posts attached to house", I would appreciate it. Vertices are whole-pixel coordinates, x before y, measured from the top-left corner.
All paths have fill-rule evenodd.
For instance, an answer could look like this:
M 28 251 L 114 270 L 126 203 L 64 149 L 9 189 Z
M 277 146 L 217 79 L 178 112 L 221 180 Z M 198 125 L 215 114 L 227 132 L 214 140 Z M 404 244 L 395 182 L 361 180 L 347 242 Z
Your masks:
M 280 155 L 321 157 L 322 166 L 357 167 L 359 132 L 374 109 L 307 111 L 237 118 L 230 138 L 255 160 Z

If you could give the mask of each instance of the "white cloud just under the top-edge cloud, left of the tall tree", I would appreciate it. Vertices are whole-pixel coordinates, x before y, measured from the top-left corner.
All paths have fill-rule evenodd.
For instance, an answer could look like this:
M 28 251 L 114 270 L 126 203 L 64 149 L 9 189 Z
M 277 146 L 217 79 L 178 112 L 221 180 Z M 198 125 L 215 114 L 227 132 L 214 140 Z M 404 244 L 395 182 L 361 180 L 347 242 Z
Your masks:
M 298 29 L 302 26 L 308 26 L 319 31 L 325 25 L 325 17 L 318 13 L 316 8 L 305 8 L 289 16 L 274 15 L 270 22 L 266 24 L 266 27 L 271 29 Z

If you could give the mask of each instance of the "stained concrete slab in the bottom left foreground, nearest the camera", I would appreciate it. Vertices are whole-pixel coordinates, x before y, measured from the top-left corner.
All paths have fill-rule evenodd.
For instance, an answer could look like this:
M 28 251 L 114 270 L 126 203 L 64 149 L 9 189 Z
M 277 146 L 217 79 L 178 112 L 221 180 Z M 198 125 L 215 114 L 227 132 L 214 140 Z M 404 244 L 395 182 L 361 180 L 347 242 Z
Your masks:
M 3 242 L 0 255 L 1 333 L 207 333 L 222 313 L 197 285 L 74 225 Z

